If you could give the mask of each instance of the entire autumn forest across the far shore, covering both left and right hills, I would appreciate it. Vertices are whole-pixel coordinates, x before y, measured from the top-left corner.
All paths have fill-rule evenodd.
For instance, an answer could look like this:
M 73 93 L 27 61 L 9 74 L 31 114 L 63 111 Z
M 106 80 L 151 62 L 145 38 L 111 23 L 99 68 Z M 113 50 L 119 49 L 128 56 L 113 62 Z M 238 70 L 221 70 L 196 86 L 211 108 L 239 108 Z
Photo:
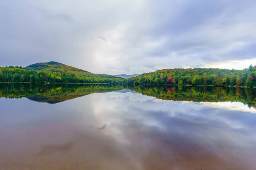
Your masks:
M 129 85 L 215 85 L 256 87 L 256 66 L 243 70 L 219 68 L 162 69 L 123 79 L 93 74 L 58 62 L 42 62 L 22 67 L 0 67 L 0 82 L 22 83 L 104 83 Z

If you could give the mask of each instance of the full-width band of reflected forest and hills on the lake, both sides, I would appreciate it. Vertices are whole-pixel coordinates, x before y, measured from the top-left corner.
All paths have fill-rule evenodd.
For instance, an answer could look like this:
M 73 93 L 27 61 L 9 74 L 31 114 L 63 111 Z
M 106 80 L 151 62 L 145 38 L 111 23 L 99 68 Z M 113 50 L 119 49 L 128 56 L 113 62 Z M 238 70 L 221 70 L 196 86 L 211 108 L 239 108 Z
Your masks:
M 122 93 L 136 91 L 163 100 L 193 102 L 241 102 L 256 108 L 255 88 L 227 88 L 209 86 L 124 86 L 81 85 L 81 84 L 2 84 L 0 97 L 26 97 L 36 102 L 58 103 L 92 93 L 118 91 Z

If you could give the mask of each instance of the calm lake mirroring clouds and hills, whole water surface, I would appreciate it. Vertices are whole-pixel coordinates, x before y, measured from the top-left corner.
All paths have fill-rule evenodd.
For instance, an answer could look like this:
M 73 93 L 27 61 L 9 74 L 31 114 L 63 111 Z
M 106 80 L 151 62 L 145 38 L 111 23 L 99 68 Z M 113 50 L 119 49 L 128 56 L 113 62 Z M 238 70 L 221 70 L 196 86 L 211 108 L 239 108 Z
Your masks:
M 0 170 L 255 170 L 255 96 L 0 83 Z

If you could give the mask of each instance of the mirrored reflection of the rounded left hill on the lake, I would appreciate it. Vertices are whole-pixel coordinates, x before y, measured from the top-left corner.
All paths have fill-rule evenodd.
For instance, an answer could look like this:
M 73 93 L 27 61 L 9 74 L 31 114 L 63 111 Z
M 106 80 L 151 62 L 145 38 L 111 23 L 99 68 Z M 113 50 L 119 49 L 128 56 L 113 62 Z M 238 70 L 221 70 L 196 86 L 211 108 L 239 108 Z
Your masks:
M 122 86 L 111 85 L 43 85 L 0 84 L 0 97 L 26 97 L 36 102 L 58 103 L 92 93 L 105 93 L 121 90 Z

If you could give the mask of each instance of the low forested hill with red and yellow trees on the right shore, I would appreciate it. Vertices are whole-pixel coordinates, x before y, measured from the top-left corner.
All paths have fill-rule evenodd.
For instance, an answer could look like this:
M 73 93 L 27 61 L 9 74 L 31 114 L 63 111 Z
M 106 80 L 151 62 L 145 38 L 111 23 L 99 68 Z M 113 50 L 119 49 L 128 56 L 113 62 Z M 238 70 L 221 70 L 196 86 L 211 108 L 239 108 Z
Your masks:
M 256 87 L 256 66 L 244 70 L 175 68 L 145 73 L 128 79 L 135 85 L 227 85 Z

